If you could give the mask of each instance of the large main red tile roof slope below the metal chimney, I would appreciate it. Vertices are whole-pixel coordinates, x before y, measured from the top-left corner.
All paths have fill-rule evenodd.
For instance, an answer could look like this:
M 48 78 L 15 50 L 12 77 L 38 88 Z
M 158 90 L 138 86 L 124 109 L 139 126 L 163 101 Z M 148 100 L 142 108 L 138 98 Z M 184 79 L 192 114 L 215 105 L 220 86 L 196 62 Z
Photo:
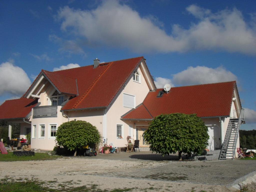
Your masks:
M 62 110 L 108 106 L 142 59 L 136 57 L 101 63 L 97 68 L 91 65 L 53 72 L 77 79 L 79 95 L 69 100 Z

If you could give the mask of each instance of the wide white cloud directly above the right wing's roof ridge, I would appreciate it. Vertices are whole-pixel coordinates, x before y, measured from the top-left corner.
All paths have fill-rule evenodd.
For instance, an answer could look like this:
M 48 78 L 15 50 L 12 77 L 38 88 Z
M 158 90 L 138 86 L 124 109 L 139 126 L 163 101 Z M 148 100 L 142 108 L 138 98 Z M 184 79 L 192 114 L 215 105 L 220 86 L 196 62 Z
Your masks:
M 186 70 L 173 74 L 174 84 L 186 86 L 225 81 L 237 81 L 237 76 L 223 67 L 209 68 L 205 66 L 188 67 Z

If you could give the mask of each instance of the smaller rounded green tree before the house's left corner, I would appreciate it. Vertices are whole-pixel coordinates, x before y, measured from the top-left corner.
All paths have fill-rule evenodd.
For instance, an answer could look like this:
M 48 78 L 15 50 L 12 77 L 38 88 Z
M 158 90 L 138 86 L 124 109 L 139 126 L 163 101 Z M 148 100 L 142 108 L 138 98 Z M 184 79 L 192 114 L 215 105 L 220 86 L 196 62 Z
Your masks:
M 68 150 L 75 150 L 84 145 L 97 145 L 100 143 L 101 135 L 98 129 L 86 121 L 70 121 L 62 123 L 56 133 L 57 144 L 67 147 Z

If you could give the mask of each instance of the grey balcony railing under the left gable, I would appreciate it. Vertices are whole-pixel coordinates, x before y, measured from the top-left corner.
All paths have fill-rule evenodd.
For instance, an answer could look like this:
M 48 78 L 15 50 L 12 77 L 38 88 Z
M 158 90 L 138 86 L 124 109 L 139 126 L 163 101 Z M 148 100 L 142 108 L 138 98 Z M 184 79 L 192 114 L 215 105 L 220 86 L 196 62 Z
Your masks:
M 33 108 L 33 118 L 57 117 L 57 106 L 39 106 Z

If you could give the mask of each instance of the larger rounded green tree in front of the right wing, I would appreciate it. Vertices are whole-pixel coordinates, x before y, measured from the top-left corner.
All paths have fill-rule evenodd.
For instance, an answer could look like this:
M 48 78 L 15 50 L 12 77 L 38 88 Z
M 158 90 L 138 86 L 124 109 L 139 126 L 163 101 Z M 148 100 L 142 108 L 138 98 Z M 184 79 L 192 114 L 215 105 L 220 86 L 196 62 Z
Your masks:
M 146 144 L 161 155 L 179 152 L 201 153 L 208 145 L 208 128 L 196 114 L 162 114 L 154 118 L 144 132 Z

